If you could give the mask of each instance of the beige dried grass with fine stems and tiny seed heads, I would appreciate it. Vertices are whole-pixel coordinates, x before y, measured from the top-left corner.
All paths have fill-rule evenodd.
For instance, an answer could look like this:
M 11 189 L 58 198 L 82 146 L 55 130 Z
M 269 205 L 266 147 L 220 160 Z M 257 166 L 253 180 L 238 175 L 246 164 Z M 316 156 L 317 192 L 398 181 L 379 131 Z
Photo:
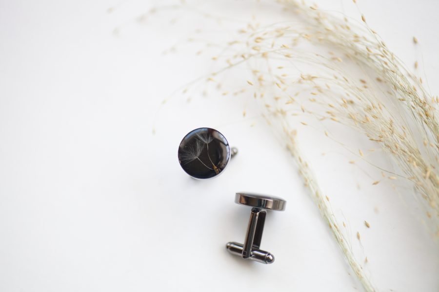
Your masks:
M 322 194 L 318 178 L 302 155 L 296 139 L 297 124 L 291 117 L 308 115 L 319 123 L 348 126 L 375 143 L 398 166 L 396 170 L 381 169 L 383 176 L 404 180 L 413 187 L 437 237 L 439 98 L 428 93 L 422 79 L 390 52 L 363 15 L 360 25 L 303 1 L 279 2 L 296 21 L 265 27 L 249 24 L 240 29 L 238 36 L 222 47 L 222 54 L 212 58 L 225 65 L 207 80 L 247 66 L 251 77 L 242 83 L 263 104 L 267 120 L 282 129 L 321 216 L 364 289 L 376 291 L 351 250 L 344 222 L 340 224 L 334 216 L 329 198 Z M 416 37 L 413 42 L 417 45 Z M 301 124 L 306 126 L 307 122 Z M 362 150 L 358 152 L 364 156 Z M 364 224 L 370 228 L 367 221 Z M 359 233 L 357 239 L 361 240 Z

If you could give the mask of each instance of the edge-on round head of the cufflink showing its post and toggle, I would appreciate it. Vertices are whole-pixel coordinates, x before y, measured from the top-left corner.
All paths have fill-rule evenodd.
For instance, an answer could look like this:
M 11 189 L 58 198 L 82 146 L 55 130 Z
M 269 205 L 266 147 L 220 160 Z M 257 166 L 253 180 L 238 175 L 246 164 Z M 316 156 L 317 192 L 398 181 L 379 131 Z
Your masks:
M 286 201 L 278 197 L 243 192 L 236 193 L 235 203 L 274 211 L 283 211 L 286 206 Z

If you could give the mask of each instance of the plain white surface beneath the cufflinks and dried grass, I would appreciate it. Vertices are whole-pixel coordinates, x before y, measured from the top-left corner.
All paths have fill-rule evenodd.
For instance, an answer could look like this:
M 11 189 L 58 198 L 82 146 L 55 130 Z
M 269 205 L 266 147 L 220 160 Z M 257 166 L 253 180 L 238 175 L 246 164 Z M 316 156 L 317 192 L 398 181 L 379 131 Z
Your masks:
M 351 1 L 316 2 L 359 19 Z M 408 67 L 419 61 L 437 94 L 438 2 L 358 2 Z M 222 15 L 264 13 L 253 1 L 196 3 Z M 232 99 L 212 106 L 216 96 L 188 104 L 178 94 L 160 107 L 209 68 L 191 48 L 162 54 L 185 38 L 185 22 L 163 25 L 175 16 L 166 13 L 136 20 L 157 4 L 0 2 L 0 291 L 361 291 L 257 110 Z M 220 177 L 194 181 L 180 169 L 177 148 L 203 126 L 219 129 L 240 152 Z M 322 152 L 319 144 L 311 148 Z M 319 160 L 322 185 L 354 196 L 362 172 L 334 185 L 319 173 L 352 169 Z M 363 234 L 357 256 L 368 256 L 364 269 L 374 285 L 438 291 L 439 253 L 428 230 L 390 187 L 367 185 L 367 207 L 351 196 L 340 214 L 353 245 L 357 230 Z M 288 201 L 266 220 L 261 248 L 276 256 L 274 264 L 225 250 L 226 242 L 243 240 L 250 212 L 233 202 L 236 191 Z

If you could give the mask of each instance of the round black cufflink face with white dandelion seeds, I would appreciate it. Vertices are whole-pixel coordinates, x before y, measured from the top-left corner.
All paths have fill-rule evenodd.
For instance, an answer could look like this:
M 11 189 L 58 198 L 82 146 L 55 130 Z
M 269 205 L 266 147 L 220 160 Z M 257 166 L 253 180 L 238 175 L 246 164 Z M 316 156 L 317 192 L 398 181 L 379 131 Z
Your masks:
M 231 157 L 226 138 L 213 128 L 190 131 L 179 147 L 181 168 L 193 178 L 210 179 L 220 175 Z

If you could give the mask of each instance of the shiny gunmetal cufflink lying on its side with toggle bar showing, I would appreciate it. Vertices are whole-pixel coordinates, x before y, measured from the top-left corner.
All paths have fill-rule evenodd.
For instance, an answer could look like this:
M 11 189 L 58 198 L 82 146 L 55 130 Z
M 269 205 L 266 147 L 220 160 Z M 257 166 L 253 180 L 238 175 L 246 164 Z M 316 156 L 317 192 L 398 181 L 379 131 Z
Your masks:
M 274 256 L 260 250 L 260 241 L 264 230 L 266 210 L 283 211 L 286 201 L 277 197 L 257 195 L 252 193 L 236 193 L 235 203 L 253 207 L 248 222 L 244 244 L 229 242 L 227 250 L 245 259 L 251 259 L 263 264 L 274 262 Z

